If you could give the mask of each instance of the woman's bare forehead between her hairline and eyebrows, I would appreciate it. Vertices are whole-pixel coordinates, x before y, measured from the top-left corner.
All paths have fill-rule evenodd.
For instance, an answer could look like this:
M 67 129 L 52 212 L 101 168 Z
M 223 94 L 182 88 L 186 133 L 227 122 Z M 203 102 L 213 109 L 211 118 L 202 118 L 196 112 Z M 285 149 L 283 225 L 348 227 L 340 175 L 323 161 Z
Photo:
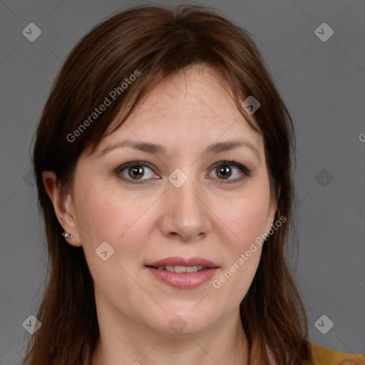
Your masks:
M 254 120 L 252 120 L 254 121 Z M 255 123 L 255 121 L 254 121 Z M 237 109 L 227 82 L 209 66 L 180 70 L 148 93 L 98 150 L 121 138 L 161 143 L 168 150 L 245 138 L 261 149 L 262 136 Z

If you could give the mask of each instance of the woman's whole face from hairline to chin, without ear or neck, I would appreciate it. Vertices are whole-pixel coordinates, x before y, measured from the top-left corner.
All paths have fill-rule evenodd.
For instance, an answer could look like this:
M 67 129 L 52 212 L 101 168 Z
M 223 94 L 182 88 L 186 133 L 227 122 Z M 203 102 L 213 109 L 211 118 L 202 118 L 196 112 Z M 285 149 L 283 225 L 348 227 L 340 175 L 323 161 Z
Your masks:
M 233 140 L 241 145 L 225 144 Z M 120 326 L 193 334 L 237 314 L 259 264 L 255 239 L 274 220 L 269 198 L 262 136 L 224 81 L 193 66 L 81 155 L 68 242 L 83 246 L 99 312 Z M 215 268 L 169 271 L 199 264 Z

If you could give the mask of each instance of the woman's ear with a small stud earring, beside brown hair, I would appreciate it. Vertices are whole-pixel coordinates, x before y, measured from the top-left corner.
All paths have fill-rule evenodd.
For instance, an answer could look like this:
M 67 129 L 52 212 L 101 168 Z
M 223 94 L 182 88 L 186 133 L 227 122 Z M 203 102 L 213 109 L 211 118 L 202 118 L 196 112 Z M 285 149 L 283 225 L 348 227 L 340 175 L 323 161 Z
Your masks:
M 60 225 L 73 236 L 72 239 L 65 240 L 72 246 L 81 246 L 80 236 L 78 234 L 78 224 L 76 222 L 75 210 L 71 195 L 63 195 L 61 186 L 57 183 L 56 173 L 54 171 L 42 172 L 43 185 L 46 188 L 48 197 L 53 204 L 56 217 Z

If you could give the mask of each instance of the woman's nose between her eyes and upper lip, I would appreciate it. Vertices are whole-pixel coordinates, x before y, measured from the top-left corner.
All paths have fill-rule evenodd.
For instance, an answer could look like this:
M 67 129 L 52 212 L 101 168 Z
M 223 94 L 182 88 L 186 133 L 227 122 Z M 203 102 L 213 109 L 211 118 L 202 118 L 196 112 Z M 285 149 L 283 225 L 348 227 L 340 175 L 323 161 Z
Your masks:
M 207 197 L 193 179 L 180 187 L 168 183 L 163 194 L 160 229 L 166 237 L 177 236 L 185 242 L 201 240 L 210 231 Z

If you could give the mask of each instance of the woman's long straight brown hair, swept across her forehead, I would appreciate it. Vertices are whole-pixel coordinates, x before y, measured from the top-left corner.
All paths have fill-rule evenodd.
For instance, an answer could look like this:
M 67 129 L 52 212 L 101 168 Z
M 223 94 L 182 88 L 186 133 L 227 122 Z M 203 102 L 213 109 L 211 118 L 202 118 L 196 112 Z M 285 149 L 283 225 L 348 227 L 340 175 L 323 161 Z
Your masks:
M 292 119 L 250 33 L 215 10 L 185 4 L 175 9 L 136 6 L 103 21 L 78 41 L 53 84 L 33 155 L 50 272 L 36 315 L 42 325 L 31 337 L 32 344 L 29 341 L 23 364 L 88 365 L 99 339 L 93 279 L 83 248 L 63 240 L 42 171 L 53 170 L 67 191 L 86 148 L 95 150 L 158 82 L 196 63 L 206 63 L 225 78 L 238 110 L 262 134 L 270 193 L 277 200 L 274 221 L 287 218 L 263 245 L 257 273 L 240 304 L 251 358 L 268 364 L 267 349 L 280 365 L 306 364 L 310 358 L 307 317 L 286 262 L 295 198 Z M 138 73 L 122 91 L 125 78 Z M 111 99 L 116 88 L 117 97 L 97 120 L 83 123 L 91 121 L 94 108 Z M 248 96 L 261 104 L 251 115 L 256 125 L 241 105 Z M 120 110 L 123 118 L 118 118 Z M 87 128 L 81 128 L 82 123 Z

